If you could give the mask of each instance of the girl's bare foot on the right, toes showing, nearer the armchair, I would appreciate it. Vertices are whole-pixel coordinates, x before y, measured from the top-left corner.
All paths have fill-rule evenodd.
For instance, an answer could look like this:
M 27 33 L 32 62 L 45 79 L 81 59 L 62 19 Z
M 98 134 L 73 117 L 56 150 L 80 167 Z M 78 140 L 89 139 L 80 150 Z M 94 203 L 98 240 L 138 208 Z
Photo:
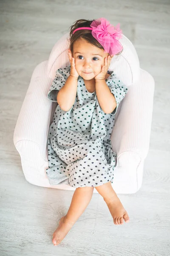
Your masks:
M 129 216 L 127 214 L 127 211 L 125 210 L 117 196 L 115 196 L 113 200 L 105 202 L 109 208 L 109 211 L 111 212 L 115 225 L 122 225 L 124 223 L 123 219 L 125 220 L 125 222 L 129 222 Z

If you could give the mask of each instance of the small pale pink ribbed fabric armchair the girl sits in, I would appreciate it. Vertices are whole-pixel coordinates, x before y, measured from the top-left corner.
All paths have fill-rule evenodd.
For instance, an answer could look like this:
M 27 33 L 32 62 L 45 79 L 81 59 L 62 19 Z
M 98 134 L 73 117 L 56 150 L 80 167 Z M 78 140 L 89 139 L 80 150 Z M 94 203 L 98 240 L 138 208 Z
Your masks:
M 32 75 L 14 130 L 14 145 L 21 157 L 26 180 L 37 186 L 75 190 L 48 182 L 47 138 L 49 125 L 57 106 L 47 98 L 55 71 L 70 64 L 68 33 L 53 47 L 48 61 L 39 64 Z M 144 159 L 150 143 L 154 80 L 140 69 L 139 59 L 128 38 L 121 39 L 123 52 L 114 56 L 109 70 L 114 70 L 128 92 L 119 105 L 111 134 L 113 151 L 117 152 L 113 189 L 116 193 L 135 193 L 142 185 Z M 94 192 L 97 192 L 94 189 Z

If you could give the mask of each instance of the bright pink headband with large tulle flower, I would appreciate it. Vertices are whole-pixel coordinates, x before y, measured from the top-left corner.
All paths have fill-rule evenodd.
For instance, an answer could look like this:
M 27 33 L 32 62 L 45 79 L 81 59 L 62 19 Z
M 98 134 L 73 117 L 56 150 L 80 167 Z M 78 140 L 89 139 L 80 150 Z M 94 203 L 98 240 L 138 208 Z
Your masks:
M 92 30 L 91 34 L 102 45 L 104 52 L 110 55 L 115 55 L 122 51 L 123 47 L 119 39 L 122 38 L 122 30 L 120 30 L 120 23 L 115 27 L 111 26 L 105 18 L 99 18 L 91 23 L 90 27 L 81 27 L 75 29 L 73 34 L 80 29 Z

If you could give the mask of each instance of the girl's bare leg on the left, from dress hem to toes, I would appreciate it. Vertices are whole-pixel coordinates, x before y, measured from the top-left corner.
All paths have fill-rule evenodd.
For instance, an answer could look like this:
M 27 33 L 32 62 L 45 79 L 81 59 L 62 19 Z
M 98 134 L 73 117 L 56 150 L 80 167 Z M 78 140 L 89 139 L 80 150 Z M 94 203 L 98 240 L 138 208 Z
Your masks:
M 65 238 L 71 227 L 85 211 L 91 201 L 93 191 L 94 187 L 79 187 L 74 191 L 68 213 L 60 219 L 59 226 L 53 234 L 52 242 L 54 245 L 58 245 Z

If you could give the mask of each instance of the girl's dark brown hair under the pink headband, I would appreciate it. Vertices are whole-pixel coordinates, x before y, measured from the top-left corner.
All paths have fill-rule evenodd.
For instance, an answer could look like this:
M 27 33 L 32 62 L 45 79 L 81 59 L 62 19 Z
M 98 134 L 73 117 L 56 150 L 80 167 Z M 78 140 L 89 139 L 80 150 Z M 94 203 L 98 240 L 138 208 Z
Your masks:
M 93 35 L 91 34 L 91 30 L 88 29 L 80 29 L 78 31 L 76 31 L 73 35 L 73 32 L 75 29 L 78 29 L 80 27 L 91 27 L 91 23 L 94 20 L 76 20 L 72 26 L 70 26 L 70 38 L 68 39 L 68 41 L 70 42 L 70 49 L 71 52 L 73 54 L 73 45 L 75 43 L 75 41 L 77 41 L 77 39 L 79 38 L 83 38 L 85 39 L 88 43 L 98 47 L 99 49 L 103 49 L 102 45 L 93 37 Z M 122 49 L 123 50 L 123 49 Z M 122 52 L 122 51 L 121 51 Z M 119 52 L 118 54 L 115 55 L 119 55 L 121 52 Z

